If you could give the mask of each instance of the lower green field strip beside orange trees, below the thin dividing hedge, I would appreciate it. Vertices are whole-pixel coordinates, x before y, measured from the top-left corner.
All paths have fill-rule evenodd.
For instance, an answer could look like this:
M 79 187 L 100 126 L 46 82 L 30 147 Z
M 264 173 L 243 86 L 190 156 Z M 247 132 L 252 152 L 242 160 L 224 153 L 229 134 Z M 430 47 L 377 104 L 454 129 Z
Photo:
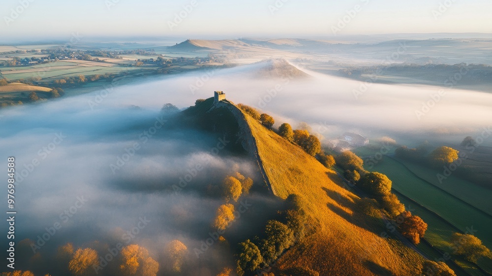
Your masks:
M 416 170 L 416 167 L 412 167 L 412 169 Z M 421 216 L 429 224 L 425 238 L 433 246 L 443 251 L 449 251 L 451 234 L 459 232 L 458 229 L 461 232 L 466 232 L 467 228 L 473 227 L 474 230 L 477 230 L 474 235 L 481 239 L 484 245 L 492 248 L 492 237 L 490 236 L 492 218 L 490 215 L 417 177 L 404 165 L 390 157 L 385 156 L 372 171 L 386 174 L 393 181 L 395 191 L 423 206 L 423 208 L 417 208 L 415 203 L 404 197 L 399 197 L 406 206 L 409 205 L 414 208 L 414 213 Z M 428 171 L 423 172 L 430 173 Z M 448 180 L 451 180 L 451 177 Z M 456 193 L 456 191 L 454 192 Z M 480 195 L 480 197 L 484 196 Z M 479 265 L 487 271 L 492 271 L 491 259 L 482 258 Z

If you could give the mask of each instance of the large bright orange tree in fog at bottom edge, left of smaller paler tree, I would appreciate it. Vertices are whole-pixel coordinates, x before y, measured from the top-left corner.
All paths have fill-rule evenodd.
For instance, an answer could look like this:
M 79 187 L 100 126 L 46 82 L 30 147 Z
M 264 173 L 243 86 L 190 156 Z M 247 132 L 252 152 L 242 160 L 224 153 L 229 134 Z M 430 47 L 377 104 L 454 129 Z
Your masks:
M 155 276 L 159 270 L 159 264 L 149 256 L 149 250 L 138 244 L 123 247 L 120 254 L 123 276 Z

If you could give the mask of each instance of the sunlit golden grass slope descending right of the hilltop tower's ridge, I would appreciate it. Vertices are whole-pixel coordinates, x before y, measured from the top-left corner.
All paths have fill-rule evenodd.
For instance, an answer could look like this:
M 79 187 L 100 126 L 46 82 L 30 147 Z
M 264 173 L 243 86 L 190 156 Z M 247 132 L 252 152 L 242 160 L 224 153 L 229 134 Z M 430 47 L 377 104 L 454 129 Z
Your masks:
M 245 116 L 277 196 L 285 199 L 295 193 L 303 197 L 317 229 L 280 257 L 277 270 L 301 266 L 320 275 L 419 274 L 423 258 L 397 240 L 380 237 L 385 230 L 382 223 L 371 223 L 355 211 L 358 197 L 339 186 L 341 180 L 334 171 Z

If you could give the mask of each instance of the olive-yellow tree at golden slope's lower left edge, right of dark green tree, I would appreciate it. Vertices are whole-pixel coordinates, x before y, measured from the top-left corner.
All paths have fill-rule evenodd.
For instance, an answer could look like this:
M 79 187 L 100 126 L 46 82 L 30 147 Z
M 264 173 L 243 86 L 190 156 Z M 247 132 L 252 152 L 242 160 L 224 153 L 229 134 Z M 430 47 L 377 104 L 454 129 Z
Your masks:
M 287 225 L 277 220 L 267 221 L 265 234 L 266 239 L 262 240 L 261 244 L 261 252 L 265 264 L 277 259 L 285 249 L 295 242 L 294 232 Z

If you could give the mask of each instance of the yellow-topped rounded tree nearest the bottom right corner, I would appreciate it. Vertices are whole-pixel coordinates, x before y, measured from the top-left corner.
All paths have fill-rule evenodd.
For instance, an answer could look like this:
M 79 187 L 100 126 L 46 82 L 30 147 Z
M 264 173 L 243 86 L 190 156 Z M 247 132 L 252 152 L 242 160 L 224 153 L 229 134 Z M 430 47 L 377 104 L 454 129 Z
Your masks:
M 467 261 L 477 263 L 481 257 L 490 255 L 489 248 L 482 244 L 482 241 L 470 234 L 454 233 L 451 236 L 454 253 L 463 256 Z

